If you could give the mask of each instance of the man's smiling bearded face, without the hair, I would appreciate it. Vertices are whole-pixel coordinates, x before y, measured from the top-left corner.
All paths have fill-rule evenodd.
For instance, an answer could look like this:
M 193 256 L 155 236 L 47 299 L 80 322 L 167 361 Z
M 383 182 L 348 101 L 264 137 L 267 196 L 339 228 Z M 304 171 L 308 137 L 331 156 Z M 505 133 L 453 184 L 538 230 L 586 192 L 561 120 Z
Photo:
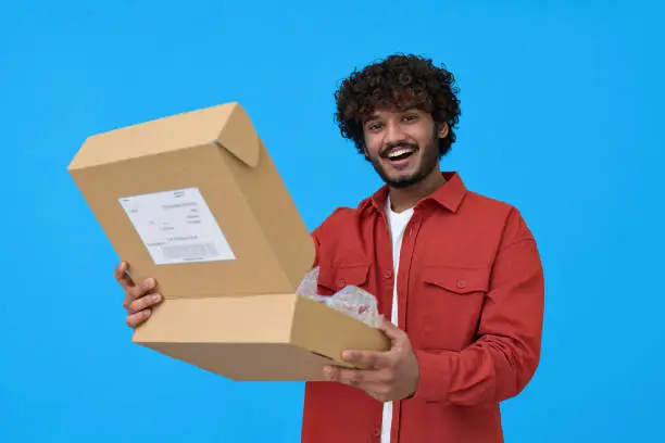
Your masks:
M 363 124 L 365 156 L 391 188 L 406 188 L 439 173 L 439 138 L 447 125 L 429 113 L 379 110 Z

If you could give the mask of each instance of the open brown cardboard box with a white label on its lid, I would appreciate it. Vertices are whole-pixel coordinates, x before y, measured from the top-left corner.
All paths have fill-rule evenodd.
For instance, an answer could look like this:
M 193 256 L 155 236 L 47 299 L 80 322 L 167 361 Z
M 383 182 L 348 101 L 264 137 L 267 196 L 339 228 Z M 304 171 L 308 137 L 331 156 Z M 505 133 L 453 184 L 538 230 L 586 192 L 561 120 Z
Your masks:
M 389 349 L 296 294 L 314 244 L 239 104 L 92 136 L 68 170 L 133 278 L 165 298 L 134 342 L 234 380 L 322 380 L 346 349 Z

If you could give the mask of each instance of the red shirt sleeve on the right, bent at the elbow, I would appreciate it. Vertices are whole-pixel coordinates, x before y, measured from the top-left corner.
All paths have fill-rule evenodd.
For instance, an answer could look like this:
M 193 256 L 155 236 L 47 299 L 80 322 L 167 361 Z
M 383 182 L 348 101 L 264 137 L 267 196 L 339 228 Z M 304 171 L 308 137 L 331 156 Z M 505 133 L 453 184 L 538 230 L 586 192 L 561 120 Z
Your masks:
M 478 405 L 517 395 L 540 359 L 543 307 L 536 241 L 513 210 L 492 269 L 479 339 L 460 352 L 416 350 L 419 380 L 412 398 Z

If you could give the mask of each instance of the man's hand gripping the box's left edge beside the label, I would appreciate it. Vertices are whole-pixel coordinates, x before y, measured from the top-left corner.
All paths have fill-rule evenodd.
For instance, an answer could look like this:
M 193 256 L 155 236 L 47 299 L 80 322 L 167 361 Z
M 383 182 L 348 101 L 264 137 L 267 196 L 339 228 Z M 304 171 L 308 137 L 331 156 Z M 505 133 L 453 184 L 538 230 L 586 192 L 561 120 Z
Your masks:
M 123 306 L 127 309 L 126 324 L 130 328 L 137 328 L 152 314 L 152 306 L 162 301 L 162 295 L 154 291 L 154 279 L 135 282 L 127 274 L 128 264 L 122 262 L 115 268 L 115 279 L 125 291 Z

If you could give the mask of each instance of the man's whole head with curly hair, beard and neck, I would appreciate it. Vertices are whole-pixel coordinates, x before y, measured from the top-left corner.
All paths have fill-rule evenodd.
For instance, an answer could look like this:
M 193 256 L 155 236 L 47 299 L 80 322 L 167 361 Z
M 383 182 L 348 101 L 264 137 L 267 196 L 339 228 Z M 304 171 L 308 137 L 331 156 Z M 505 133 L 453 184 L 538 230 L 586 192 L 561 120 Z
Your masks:
M 415 54 L 392 54 L 353 72 L 335 91 L 335 119 L 391 188 L 391 202 L 409 205 L 444 178 L 439 160 L 456 140 L 460 100 L 454 75 Z

